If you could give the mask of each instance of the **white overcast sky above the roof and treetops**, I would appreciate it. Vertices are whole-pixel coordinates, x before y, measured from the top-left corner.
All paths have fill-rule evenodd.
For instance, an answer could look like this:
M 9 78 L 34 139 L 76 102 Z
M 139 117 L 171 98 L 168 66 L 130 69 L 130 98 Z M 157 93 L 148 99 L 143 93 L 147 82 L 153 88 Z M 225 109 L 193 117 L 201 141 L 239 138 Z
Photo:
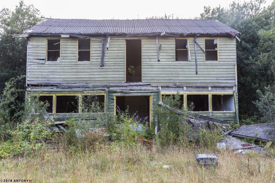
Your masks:
M 239 0 L 241 3 L 244 0 Z M 266 0 L 265 6 L 273 0 Z M 231 1 L 226 0 L 189 0 L 189 1 L 120 1 L 120 0 L 24 0 L 26 5 L 33 4 L 41 15 L 52 18 L 81 19 L 144 19 L 151 16 L 174 14 L 174 17 L 194 18 L 203 12 L 204 6 L 228 7 Z M 0 8 L 15 9 L 19 0 L 2 0 Z

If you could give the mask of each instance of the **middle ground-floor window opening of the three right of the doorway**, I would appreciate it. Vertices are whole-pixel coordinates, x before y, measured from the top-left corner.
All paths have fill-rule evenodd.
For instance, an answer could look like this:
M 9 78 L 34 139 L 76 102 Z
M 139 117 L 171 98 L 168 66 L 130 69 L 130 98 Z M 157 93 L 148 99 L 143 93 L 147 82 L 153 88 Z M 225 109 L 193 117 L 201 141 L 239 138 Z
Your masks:
M 193 111 L 209 111 L 208 95 L 187 95 L 187 106 L 192 103 Z

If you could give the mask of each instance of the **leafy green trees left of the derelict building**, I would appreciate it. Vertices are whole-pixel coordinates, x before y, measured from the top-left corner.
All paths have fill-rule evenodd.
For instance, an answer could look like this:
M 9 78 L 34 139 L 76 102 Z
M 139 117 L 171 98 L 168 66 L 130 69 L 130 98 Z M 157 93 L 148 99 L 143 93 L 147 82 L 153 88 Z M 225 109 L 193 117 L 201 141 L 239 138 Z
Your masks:
M 33 5 L 25 5 L 21 0 L 15 10 L 3 8 L 0 11 L 0 95 L 5 82 L 26 73 L 26 54 L 28 41 L 25 38 L 11 38 L 11 34 L 23 34 L 44 17 Z M 20 77 L 15 84 L 18 90 L 25 89 L 25 78 Z M 24 92 L 15 101 L 23 102 Z M 14 106 L 14 109 L 18 106 Z M 14 110 L 10 111 L 15 113 Z

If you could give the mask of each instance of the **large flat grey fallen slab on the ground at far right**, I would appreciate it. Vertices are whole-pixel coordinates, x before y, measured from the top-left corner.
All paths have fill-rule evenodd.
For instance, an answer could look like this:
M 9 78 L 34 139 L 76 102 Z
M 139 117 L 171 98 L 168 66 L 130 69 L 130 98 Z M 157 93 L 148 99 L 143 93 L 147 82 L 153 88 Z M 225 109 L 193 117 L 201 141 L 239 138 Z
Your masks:
M 242 125 L 239 129 L 229 133 L 229 135 L 268 142 L 275 138 L 275 124 L 262 123 L 256 125 Z

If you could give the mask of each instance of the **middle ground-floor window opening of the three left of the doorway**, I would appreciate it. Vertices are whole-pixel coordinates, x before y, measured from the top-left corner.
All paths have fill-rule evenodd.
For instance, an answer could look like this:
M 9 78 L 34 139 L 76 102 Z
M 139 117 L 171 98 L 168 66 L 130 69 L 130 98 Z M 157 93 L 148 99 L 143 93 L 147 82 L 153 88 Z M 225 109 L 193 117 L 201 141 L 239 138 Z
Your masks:
M 78 96 L 56 96 L 56 113 L 78 113 Z

